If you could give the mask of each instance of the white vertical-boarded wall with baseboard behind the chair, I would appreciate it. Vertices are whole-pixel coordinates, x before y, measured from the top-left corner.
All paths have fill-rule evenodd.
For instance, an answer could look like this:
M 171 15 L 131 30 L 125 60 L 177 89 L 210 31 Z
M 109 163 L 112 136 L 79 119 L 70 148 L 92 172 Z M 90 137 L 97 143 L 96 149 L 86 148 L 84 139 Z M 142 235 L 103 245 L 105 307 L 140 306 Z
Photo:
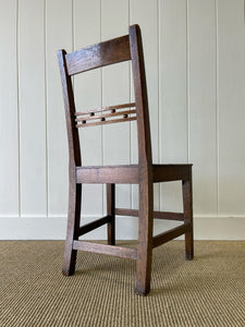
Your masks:
M 0 239 L 62 239 L 68 143 L 56 51 L 142 27 L 155 162 L 194 164 L 196 239 L 245 239 L 243 0 L 0 0 Z M 128 63 L 75 77 L 77 108 L 130 101 Z M 84 165 L 136 162 L 135 123 L 82 133 Z M 83 189 L 83 221 L 106 210 Z M 119 185 L 117 203 L 137 207 Z M 157 209 L 181 210 L 180 183 L 155 185 Z M 137 235 L 118 218 L 118 238 Z M 156 232 L 173 226 L 157 221 Z M 105 238 L 102 228 L 88 238 Z

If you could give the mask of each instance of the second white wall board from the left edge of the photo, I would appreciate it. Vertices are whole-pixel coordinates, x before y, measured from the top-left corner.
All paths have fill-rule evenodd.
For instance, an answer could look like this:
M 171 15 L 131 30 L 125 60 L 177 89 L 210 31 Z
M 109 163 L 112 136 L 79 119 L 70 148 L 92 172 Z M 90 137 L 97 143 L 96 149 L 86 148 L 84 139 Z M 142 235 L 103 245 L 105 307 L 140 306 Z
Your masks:
M 19 3 L 21 214 L 47 215 L 45 7 Z

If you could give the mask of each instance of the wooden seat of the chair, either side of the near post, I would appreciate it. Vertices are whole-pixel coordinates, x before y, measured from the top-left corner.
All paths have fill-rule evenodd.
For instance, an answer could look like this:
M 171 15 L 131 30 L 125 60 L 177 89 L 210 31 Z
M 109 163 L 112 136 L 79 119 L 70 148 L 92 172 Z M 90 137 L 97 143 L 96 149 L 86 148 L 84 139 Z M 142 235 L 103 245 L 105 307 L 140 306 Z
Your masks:
M 192 165 L 152 165 L 154 183 L 188 180 Z M 138 184 L 138 165 L 76 167 L 77 183 Z

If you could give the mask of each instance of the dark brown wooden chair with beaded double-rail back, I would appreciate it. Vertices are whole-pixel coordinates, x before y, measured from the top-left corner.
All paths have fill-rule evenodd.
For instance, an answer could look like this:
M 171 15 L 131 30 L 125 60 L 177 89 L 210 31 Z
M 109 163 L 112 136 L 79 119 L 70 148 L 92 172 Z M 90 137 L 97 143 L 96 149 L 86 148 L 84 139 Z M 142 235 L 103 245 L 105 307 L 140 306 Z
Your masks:
M 136 261 L 136 293 L 150 291 L 151 254 L 157 247 L 185 234 L 186 258 L 193 258 L 192 165 L 152 165 L 148 99 L 142 35 L 138 25 L 130 34 L 103 41 L 75 52 L 58 51 L 70 155 L 70 193 L 68 232 L 63 274 L 74 274 L 77 250 L 108 254 Z M 135 102 L 77 112 L 71 76 L 88 70 L 132 60 Z M 134 109 L 135 108 L 135 109 Z M 119 122 L 137 121 L 138 165 L 84 167 L 81 160 L 78 129 Z M 184 213 L 154 211 L 152 184 L 182 181 Z M 82 183 L 107 184 L 107 216 L 79 226 Z M 115 208 L 115 187 L 119 184 L 139 185 L 139 209 Z M 137 249 L 115 246 L 115 215 L 138 219 Z M 154 218 L 183 221 L 180 227 L 152 237 Z M 79 241 L 83 235 L 108 223 L 108 245 Z

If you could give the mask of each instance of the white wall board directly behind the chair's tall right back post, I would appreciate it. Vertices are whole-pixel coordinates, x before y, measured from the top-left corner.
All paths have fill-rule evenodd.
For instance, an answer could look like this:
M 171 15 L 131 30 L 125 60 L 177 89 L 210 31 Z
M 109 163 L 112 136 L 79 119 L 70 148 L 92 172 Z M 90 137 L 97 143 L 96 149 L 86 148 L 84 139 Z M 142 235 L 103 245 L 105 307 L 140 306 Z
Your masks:
M 152 143 L 152 160 L 159 162 L 159 110 L 158 110 L 158 1 L 131 0 L 131 24 L 138 24 L 142 28 L 143 46 L 146 65 L 146 78 L 149 101 L 149 117 Z M 133 125 L 132 136 L 135 140 L 136 125 Z M 133 143 L 133 157 L 136 146 Z M 133 158 L 134 160 L 134 158 Z M 155 208 L 159 208 L 159 185 L 155 185 Z M 137 192 L 133 193 L 133 205 L 137 207 Z

